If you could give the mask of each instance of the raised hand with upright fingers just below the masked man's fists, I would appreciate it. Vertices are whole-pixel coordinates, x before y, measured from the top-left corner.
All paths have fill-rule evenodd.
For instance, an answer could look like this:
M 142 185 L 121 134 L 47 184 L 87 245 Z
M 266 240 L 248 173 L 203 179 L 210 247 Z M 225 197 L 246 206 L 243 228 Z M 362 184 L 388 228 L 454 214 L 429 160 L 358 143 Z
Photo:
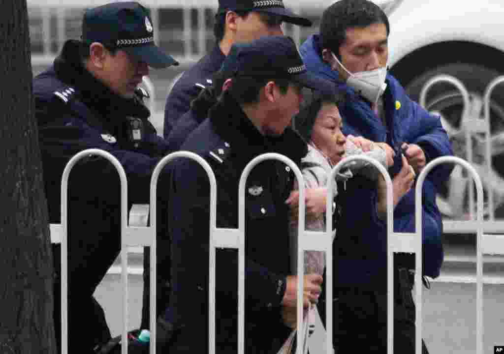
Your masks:
M 415 181 L 415 171 L 413 167 L 408 165 L 408 161 L 402 156 L 403 159 L 403 167 L 401 171 L 394 177 L 392 180 L 392 189 L 393 189 L 393 200 L 394 205 L 392 209 L 394 209 L 402 198 L 404 194 L 406 194 L 411 187 L 413 186 L 413 182 Z M 380 176 L 377 182 L 378 188 L 378 199 L 376 201 L 376 210 L 378 213 L 378 217 L 382 220 L 385 220 L 387 217 L 387 184 L 385 183 L 385 179 Z

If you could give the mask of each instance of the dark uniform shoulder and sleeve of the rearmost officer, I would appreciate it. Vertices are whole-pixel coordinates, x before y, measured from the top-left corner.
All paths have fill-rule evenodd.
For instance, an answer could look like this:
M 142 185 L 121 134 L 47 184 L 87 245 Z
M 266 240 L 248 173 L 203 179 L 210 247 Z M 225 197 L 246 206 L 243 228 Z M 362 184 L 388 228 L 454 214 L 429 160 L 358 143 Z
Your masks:
M 212 85 L 212 75 L 220 69 L 225 58 L 226 56 L 216 44 L 210 53 L 186 70 L 175 83 L 166 98 L 163 129 L 165 138 L 168 138 L 175 123 L 190 109 L 191 101 L 202 90 L 201 86 Z

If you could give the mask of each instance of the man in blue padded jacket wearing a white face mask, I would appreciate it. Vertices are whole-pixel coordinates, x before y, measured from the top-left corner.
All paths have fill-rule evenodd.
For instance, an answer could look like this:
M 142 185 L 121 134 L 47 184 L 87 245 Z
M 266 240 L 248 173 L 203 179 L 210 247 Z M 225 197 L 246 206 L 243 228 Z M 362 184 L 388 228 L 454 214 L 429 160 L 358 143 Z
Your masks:
M 346 104 L 340 108 L 344 133 L 363 136 L 385 149 L 394 177 L 402 154 L 418 174 L 426 163 L 452 155 L 452 150 L 440 120 L 412 102 L 387 74 L 389 32 L 387 16 L 378 6 L 367 0 L 341 0 L 325 10 L 320 34 L 309 37 L 300 52 L 310 72 L 346 90 Z M 443 225 L 435 194 L 450 172 L 451 166 L 436 168 L 423 186 L 423 271 L 430 277 L 439 275 L 443 262 Z M 386 225 L 377 218 L 376 190 L 369 181 L 355 177 L 339 190 L 334 344 L 342 351 L 385 352 Z M 394 210 L 394 231 L 414 231 L 414 206 L 412 189 Z M 412 257 L 399 254 L 394 261 L 394 349 L 400 352 L 414 350 Z

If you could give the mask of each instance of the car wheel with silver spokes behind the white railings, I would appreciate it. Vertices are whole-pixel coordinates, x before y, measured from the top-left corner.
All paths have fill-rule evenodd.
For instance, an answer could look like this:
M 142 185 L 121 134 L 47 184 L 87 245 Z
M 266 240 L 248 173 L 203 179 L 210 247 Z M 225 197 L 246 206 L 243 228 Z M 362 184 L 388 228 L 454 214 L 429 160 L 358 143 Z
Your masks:
M 450 75 L 459 79 L 469 94 L 468 109 L 471 118 L 484 120 L 485 89 L 501 74 L 476 64 L 447 64 L 428 70 L 413 79 L 406 86 L 406 92 L 413 100 L 418 101 L 425 83 L 438 75 Z M 435 112 L 442 119 L 454 155 L 467 159 L 469 143 L 466 141 L 465 127 L 461 124 L 463 106 L 462 94 L 449 83 L 435 84 L 427 92 L 425 99 L 425 108 Z M 487 168 L 485 134 L 473 133 L 470 144 L 472 144 L 473 166 L 483 182 L 484 216 L 488 218 L 493 210 L 495 218 L 498 219 L 504 217 L 504 84 L 497 86 L 490 98 L 490 135 L 492 140 L 490 169 Z M 456 167 L 444 190 L 440 190 L 437 196 L 439 210 L 445 218 L 457 220 L 471 218 L 468 186 L 466 171 Z M 489 193 L 493 193 L 492 205 L 489 205 Z

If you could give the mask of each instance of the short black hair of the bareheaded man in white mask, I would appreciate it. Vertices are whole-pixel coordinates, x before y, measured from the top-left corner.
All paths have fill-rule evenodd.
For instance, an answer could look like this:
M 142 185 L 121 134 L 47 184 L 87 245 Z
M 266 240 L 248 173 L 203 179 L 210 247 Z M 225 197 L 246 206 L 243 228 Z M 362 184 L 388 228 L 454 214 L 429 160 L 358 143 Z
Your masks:
M 340 0 L 322 14 L 320 23 L 320 50 L 330 49 L 339 59 L 340 46 L 346 39 L 346 30 L 383 23 L 390 33 L 389 19 L 385 12 L 368 0 Z

